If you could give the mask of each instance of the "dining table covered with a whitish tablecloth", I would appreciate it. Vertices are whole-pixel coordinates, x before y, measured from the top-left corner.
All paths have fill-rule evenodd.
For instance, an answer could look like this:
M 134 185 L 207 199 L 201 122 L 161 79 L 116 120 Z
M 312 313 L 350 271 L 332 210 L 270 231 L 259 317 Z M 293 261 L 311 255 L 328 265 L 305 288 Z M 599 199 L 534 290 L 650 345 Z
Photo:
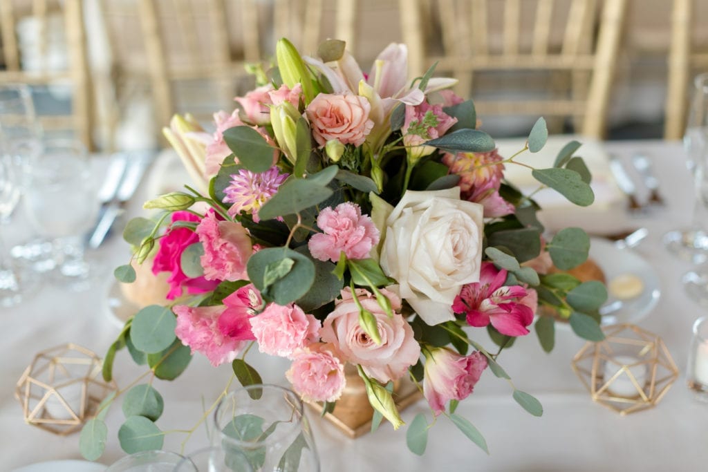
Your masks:
M 656 275 L 658 300 L 651 310 L 634 321 L 637 326 L 663 339 L 678 368 L 678 378 L 653 408 L 619 415 L 593 401 L 586 386 L 571 368 L 573 356 L 587 341 L 567 326 L 556 328 L 552 352 L 544 352 L 533 330 L 503 350 L 498 363 L 511 382 L 494 376 L 489 369 L 482 374 L 474 393 L 459 403 L 457 414 L 467 418 L 484 435 L 489 454 L 460 432 L 444 415 L 433 418 L 425 400 L 401 412 L 410 423 L 418 413 L 432 423 L 423 455 L 406 447 L 406 426 L 394 431 L 383 422 L 375 432 L 350 439 L 341 430 L 307 409 L 312 425 L 321 471 L 706 471 L 708 470 L 708 403 L 696 398 L 686 384 L 686 365 L 697 318 L 708 314 L 687 296 L 682 277 L 692 268 L 663 246 L 667 231 L 688 226 L 692 221 L 694 190 L 685 166 L 680 142 L 663 140 L 607 141 L 601 143 L 607 155 L 620 159 L 627 168 L 636 153 L 651 159 L 663 205 L 652 205 L 630 212 L 626 201 L 598 211 L 583 219 L 589 234 L 611 234 L 646 228 L 648 234 L 632 251 Z M 105 168 L 105 156 L 97 156 L 97 172 Z M 153 169 L 153 172 L 155 170 Z M 640 202 L 647 197 L 638 175 Z M 142 200 L 154 190 L 142 185 L 127 207 L 127 215 L 142 214 Z M 71 209 L 67 209 L 67 212 Z M 567 207 L 568 214 L 574 211 Z M 610 212 L 614 212 L 610 219 Z M 554 218 L 564 221 L 562 213 Z M 700 216 L 700 214 L 699 214 Z M 569 220 L 571 221 L 569 216 Z M 708 219 L 702 219 L 704 223 Z M 115 292 L 113 269 L 130 260 L 130 246 L 120 237 L 118 222 L 107 240 L 89 250 L 92 265 L 90 287 L 72 291 L 61 282 L 36 280 L 23 301 L 11 308 L 0 308 L 0 470 L 13 471 L 28 464 L 59 459 L 82 459 L 79 434 L 52 434 L 25 423 L 21 403 L 16 398 L 16 383 L 34 356 L 62 343 L 76 343 L 105 355 L 120 333 L 108 304 Z M 21 208 L 13 223 L 0 231 L 13 237 L 22 232 Z M 25 228 L 26 229 L 26 228 Z M 27 231 L 24 231 L 28 234 Z M 593 236 L 594 237 L 594 236 Z M 603 261 L 598 260 L 603 266 Z M 494 350 L 484 329 L 471 332 L 474 339 Z M 283 373 L 287 359 L 268 357 L 255 349 L 247 360 L 261 374 L 264 383 L 287 386 Z M 114 377 L 119 387 L 130 385 L 146 367 L 135 365 L 126 350 L 115 358 Z M 168 432 L 164 449 L 189 454 L 207 446 L 205 427 L 200 424 L 212 402 L 232 376 L 229 364 L 211 367 L 202 355 L 195 355 L 185 373 L 174 381 L 155 379 L 154 386 L 165 401 L 164 413 L 156 421 Z M 514 388 L 535 396 L 543 406 L 540 417 L 527 413 L 513 398 Z M 125 417 L 116 399 L 105 416 L 108 440 L 100 464 L 112 464 L 125 456 L 120 448 L 118 429 Z M 191 430 L 191 432 L 185 432 Z

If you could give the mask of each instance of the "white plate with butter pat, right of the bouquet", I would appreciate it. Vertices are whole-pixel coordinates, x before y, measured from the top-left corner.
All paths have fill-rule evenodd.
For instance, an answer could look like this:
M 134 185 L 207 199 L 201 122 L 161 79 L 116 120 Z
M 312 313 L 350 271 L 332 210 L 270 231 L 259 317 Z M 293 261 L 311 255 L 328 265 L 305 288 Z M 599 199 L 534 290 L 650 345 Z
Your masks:
M 617 323 L 636 323 L 646 318 L 661 296 L 659 278 L 653 267 L 631 249 L 619 249 L 612 241 L 602 238 L 590 239 L 590 258 L 605 272 L 607 284 L 619 275 L 634 275 L 641 280 L 641 294 L 632 299 L 619 300 L 609 294 L 600 308 L 602 326 Z

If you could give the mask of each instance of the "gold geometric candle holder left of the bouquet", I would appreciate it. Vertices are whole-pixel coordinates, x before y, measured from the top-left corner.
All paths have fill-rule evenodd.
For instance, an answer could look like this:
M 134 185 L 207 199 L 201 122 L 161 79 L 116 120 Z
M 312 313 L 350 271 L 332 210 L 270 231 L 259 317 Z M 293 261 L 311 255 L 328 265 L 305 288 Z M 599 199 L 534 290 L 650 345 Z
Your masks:
M 61 435 L 78 430 L 118 389 L 103 381 L 102 367 L 94 352 L 72 343 L 40 352 L 15 389 L 25 422 Z

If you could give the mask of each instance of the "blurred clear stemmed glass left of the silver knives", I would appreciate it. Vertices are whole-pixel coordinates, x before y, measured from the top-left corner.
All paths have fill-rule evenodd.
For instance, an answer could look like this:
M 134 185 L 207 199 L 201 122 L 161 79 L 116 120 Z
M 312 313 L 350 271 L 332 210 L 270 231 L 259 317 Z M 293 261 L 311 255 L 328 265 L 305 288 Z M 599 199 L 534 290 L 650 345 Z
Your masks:
M 47 140 L 25 175 L 25 209 L 35 231 L 52 241 L 51 268 L 71 288 L 88 288 L 83 236 L 98 214 L 98 190 L 86 148 L 72 139 Z

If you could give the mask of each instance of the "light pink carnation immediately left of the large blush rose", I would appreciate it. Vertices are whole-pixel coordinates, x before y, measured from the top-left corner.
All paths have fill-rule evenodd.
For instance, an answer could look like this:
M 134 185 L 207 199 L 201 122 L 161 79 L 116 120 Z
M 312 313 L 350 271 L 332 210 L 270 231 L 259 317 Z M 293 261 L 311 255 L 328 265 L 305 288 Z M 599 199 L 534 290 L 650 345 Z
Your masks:
M 258 350 L 265 354 L 290 358 L 298 348 L 319 340 L 319 320 L 295 304 L 268 304 L 250 322 Z

